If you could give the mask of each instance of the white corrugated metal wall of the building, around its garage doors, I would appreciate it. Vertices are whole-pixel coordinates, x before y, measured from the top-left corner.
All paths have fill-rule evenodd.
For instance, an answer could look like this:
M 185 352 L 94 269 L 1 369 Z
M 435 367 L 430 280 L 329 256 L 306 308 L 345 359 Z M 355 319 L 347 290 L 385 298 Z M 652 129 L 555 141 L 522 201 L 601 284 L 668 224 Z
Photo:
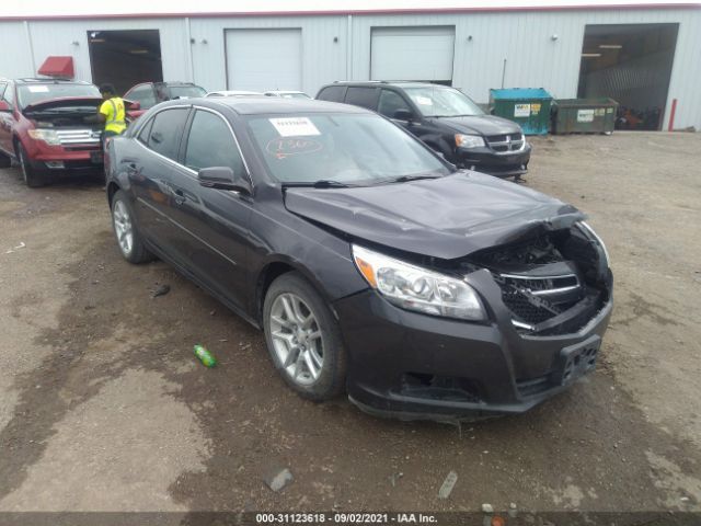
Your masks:
M 504 59 L 506 87 L 543 87 L 558 98 L 576 96 L 587 24 L 663 22 L 679 23 L 665 128 L 676 98 L 676 126 L 701 129 L 697 87 L 701 79 L 700 9 L 33 21 L 28 30 L 36 67 L 48 55 L 72 55 L 79 78 L 87 80 L 91 77 L 88 31 L 159 30 L 164 79 L 194 80 L 219 90 L 227 83 L 225 30 L 298 27 L 302 32 L 302 89 L 315 94 L 320 85 L 333 80 L 369 79 L 372 27 L 455 25 L 453 85 L 486 102 L 490 88 L 502 85 Z M 25 43 L 22 22 L 0 22 L 0 49 L 13 49 L 0 56 L 0 76 L 32 75 Z

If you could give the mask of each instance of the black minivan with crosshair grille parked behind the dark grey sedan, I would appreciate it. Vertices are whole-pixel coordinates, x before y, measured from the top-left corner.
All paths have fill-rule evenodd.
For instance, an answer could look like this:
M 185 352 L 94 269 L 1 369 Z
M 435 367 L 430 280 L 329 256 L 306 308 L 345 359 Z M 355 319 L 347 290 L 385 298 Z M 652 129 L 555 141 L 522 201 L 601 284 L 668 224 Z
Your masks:
M 455 88 L 421 82 L 334 82 L 317 99 L 367 107 L 401 124 L 458 168 L 519 178 L 531 147 L 516 123 L 486 115 Z

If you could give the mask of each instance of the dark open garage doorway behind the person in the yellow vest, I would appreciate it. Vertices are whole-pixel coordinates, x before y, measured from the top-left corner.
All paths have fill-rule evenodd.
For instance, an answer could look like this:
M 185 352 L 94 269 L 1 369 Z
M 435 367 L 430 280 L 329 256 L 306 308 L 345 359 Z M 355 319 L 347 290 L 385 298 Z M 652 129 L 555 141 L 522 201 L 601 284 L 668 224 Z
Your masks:
M 161 39 L 158 30 L 89 31 L 92 81 L 110 82 L 125 93 L 140 82 L 161 82 Z

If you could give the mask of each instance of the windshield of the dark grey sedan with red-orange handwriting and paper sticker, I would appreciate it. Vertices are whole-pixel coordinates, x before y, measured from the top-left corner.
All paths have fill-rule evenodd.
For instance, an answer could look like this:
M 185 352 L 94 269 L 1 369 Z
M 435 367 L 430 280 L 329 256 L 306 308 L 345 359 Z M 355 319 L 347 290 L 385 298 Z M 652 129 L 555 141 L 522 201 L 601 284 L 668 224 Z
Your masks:
M 416 139 L 378 115 L 255 115 L 248 122 L 268 171 L 283 183 L 366 185 L 450 173 Z

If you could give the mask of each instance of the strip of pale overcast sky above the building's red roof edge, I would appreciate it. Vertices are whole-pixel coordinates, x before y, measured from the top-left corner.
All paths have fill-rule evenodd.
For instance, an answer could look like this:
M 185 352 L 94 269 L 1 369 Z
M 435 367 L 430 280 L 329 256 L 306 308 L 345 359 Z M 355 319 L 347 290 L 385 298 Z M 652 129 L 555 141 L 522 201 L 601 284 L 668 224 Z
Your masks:
M 606 4 L 697 4 L 690 0 L 0 0 L 0 16 L 72 14 L 207 13 L 275 11 L 364 11 L 441 8 L 527 8 Z

